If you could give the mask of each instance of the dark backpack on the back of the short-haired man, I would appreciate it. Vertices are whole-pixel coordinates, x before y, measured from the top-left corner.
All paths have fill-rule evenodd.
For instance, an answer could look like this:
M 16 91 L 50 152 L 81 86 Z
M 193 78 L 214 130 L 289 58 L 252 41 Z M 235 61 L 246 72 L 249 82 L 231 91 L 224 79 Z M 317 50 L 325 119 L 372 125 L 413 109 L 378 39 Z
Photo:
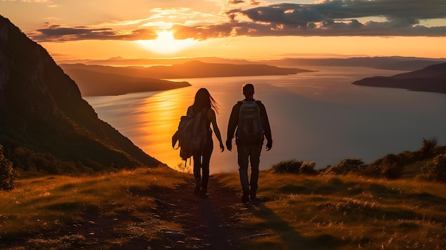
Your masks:
M 239 142 L 261 143 L 264 140 L 263 118 L 260 115 L 258 103 L 260 101 L 239 101 L 240 113 L 237 126 L 237 138 Z

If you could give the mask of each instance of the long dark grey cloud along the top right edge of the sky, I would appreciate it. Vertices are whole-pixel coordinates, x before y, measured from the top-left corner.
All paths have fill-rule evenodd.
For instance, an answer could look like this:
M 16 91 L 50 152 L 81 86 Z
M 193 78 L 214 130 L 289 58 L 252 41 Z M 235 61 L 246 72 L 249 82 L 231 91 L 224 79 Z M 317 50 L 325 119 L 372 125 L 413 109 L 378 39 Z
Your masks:
M 252 21 L 282 24 L 323 19 L 358 19 L 383 16 L 393 19 L 444 19 L 444 0 L 331 0 L 320 4 L 273 4 L 237 11 Z

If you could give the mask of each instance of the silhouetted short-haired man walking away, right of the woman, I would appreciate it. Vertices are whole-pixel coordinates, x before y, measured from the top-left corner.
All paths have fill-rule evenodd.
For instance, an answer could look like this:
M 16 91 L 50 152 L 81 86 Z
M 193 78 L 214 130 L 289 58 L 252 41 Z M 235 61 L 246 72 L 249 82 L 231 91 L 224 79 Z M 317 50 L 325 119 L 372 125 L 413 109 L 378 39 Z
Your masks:
M 237 161 L 239 164 L 239 177 L 242 184 L 243 195 L 242 202 L 249 202 L 249 198 L 256 199 L 256 192 L 258 189 L 257 182 L 259 180 L 259 162 L 261 147 L 264 143 L 264 137 L 266 137 L 266 151 L 271 150 L 273 140 L 271 137 L 271 127 L 269 126 L 268 115 L 266 114 L 266 108 L 259 100 L 254 100 L 254 85 L 246 83 L 243 85 L 244 100 L 237 102 L 232 108 L 232 113 L 229 118 L 226 147 L 229 151 L 232 151 L 232 138 L 235 136 L 235 143 L 237 145 Z M 254 104 L 255 103 L 255 104 Z M 254 104 L 254 105 L 253 105 Z M 244 107 L 242 107 L 242 105 Z M 254 133 L 247 136 L 244 135 L 244 114 L 247 105 L 254 106 L 260 116 L 260 137 L 255 134 L 256 122 L 250 123 L 250 129 L 254 130 Z M 242 112 L 241 112 L 242 110 Z M 254 120 L 255 118 L 252 118 Z M 236 132 L 237 130 L 237 132 Z M 251 162 L 251 179 L 248 179 L 248 165 Z

